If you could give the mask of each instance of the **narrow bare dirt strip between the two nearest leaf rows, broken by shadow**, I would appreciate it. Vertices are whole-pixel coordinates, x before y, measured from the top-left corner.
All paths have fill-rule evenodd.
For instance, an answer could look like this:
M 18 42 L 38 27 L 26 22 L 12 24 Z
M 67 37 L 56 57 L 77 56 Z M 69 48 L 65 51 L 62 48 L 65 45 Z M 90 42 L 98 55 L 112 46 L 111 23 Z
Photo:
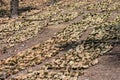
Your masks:
M 81 38 L 80 38 L 77 42 L 79 43 L 79 42 L 81 42 L 81 41 L 83 41 L 83 40 L 86 40 L 87 37 L 89 36 L 89 33 L 91 33 L 92 31 L 93 31 L 93 28 L 88 28 L 85 32 L 83 32 Z M 86 35 L 86 36 L 84 36 L 84 35 Z M 44 64 L 51 62 L 51 61 L 52 61 L 53 59 L 55 59 L 55 58 L 64 56 L 64 54 L 65 54 L 69 49 L 72 49 L 72 48 L 74 48 L 74 47 L 72 47 L 72 45 L 69 45 L 69 46 L 65 47 L 64 50 L 60 51 L 59 54 L 57 54 L 56 56 L 51 57 L 51 58 L 48 58 L 48 59 L 42 61 L 41 64 L 36 65 L 36 66 L 34 66 L 34 67 L 27 67 L 25 70 L 20 71 L 20 72 L 18 72 L 17 74 L 8 77 L 8 79 L 14 78 L 14 77 L 16 77 L 16 76 L 24 75 L 24 74 L 26 74 L 26 73 L 27 73 L 28 71 L 30 71 L 30 70 L 32 70 L 32 71 L 37 71 L 37 70 L 39 70 Z

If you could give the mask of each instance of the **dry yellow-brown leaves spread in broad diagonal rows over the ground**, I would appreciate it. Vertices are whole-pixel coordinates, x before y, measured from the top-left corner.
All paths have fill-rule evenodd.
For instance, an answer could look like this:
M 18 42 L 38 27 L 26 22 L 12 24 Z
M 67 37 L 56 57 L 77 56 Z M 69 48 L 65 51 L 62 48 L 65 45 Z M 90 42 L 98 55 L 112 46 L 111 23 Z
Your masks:
M 110 40 L 120 40 L 119 3 L 119 0 L 63 0 L 23 16 L 24 20 L 2 24 L 0 45 L 9 48 L 33 38 L 49 25 L 70 22 L 49 40 L 1 60 L 0 76 L 6 75 L 10 80 L 77 80 L 83 69 L 95 65 L 96 58 L 113 48 Z M 82 19 L 72 22 L 78 16 Z M 89 29 L 92 31 L 84 34 Z M 83 36 L 88 37 L 81 40 Z M 13 77 L 37 65 L 38 70 L 29 69 Z

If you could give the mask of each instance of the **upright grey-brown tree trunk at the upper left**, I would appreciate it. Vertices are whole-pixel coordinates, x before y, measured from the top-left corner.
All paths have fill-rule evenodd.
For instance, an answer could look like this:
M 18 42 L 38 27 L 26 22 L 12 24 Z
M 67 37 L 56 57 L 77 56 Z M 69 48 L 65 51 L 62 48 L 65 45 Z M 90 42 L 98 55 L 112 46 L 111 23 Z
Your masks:
M 10 6 L 11 18 L 18 17 L 19 0 L 11 0 Z

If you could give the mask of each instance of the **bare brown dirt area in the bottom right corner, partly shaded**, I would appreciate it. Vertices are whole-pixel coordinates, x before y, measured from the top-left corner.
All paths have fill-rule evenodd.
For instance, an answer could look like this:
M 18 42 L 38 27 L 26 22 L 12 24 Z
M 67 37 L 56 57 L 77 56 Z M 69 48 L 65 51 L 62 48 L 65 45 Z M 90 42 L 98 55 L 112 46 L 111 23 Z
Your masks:
M 120 44 L 98 60 L 99 63 L 86 69 L 78 80 L 120 80 Z

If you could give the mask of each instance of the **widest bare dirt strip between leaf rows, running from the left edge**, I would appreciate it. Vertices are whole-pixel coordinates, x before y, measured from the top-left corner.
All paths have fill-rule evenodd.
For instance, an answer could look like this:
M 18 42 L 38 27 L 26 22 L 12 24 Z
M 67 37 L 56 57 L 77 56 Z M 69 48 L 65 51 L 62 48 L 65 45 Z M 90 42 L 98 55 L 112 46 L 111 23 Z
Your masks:
M 38 43 L 42 43 L 43 41 L 48 40 L 51 38 L 56 32 L 61 31 L 65 28 L 67 24 L 59 24 L 59 25 L 53 25 L 48 26 L 44 30 L 42 30 L 36 37 L 33 37 L 29 40 L 26 40 L 24 42 L 18 43 L 15 46 L 5 50 L 5 53 L 1 54 L 0 60 L 6 59 L 10 56 L 13 56 L 17 54 L 18 52 L 24 51 L 25 49 L 31 48 L 33 45 L 37 45 Z

